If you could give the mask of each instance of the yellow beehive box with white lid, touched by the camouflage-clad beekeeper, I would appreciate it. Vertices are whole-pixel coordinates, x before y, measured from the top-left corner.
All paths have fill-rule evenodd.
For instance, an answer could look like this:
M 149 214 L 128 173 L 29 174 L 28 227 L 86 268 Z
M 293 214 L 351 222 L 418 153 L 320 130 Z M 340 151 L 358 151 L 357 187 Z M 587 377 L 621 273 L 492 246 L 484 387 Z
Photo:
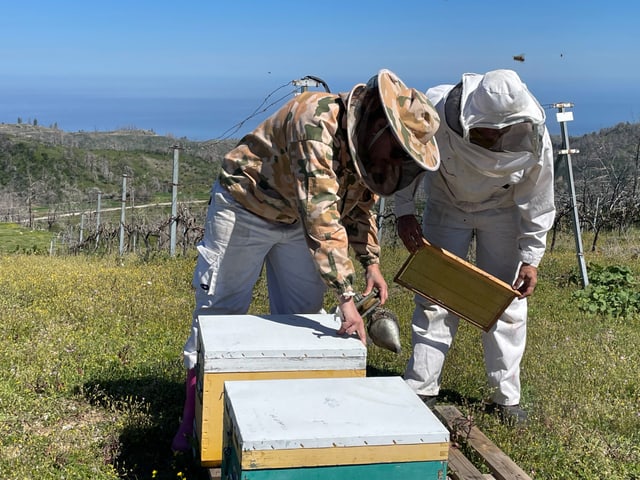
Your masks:
M 367 350 L 334 315 L 200 316 L 195 436 L 203 466 L 222 463 L 226 380 L 364 377 Z

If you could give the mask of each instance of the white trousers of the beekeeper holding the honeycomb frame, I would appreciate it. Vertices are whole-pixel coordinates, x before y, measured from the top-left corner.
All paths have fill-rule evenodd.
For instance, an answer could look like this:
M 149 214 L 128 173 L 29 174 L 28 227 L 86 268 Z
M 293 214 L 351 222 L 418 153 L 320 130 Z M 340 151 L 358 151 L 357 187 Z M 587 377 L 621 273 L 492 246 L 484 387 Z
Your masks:
M 467 258 L 475 234 L 476 265 L 510 285 L 520 268 L 517 226 L 515 208 L 468 213 L 430 203 L 423 217 L 425 238 L 461 258 Z M 437 395 L 459 319 L 422 296 L 416 295 L 415 303 L 413 353 L 404 378 L 416 393 Z M 482 334 L 487 381 L 497 404 L 520 403 L 520 362 L 526 325 L 527 300 L 515 299 L 491 331 Z

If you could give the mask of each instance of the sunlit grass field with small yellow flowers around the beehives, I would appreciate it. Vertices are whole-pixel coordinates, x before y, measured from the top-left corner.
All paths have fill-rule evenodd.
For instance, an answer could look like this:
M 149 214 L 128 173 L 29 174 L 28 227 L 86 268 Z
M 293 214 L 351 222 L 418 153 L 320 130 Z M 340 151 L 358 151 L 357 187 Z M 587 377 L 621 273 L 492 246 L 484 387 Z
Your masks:
M 599 244 L 588 264 L 640 275 L 637 236 Z M 522 403 L 531 424 L 513 430 L 483 412 L 480 332 L 469 324 L 447 359 L 443 393 L 533 478 L 640 479 L 640 317 L 578 308 L 572 248 L 567 235 L 547 254 L 530 302 Z M 403 352 L 369 347 L 369 375 L 401 375 L 410 353 L 412 295 L 392 283 L 406 256 L 383 254 Z M 207 478 L 169 448 L 194 264 L 195 254 L 146 262 L 0 254 L 0 478 Z M 253 313 L 266 313 L 265 298 L 261 281 Z

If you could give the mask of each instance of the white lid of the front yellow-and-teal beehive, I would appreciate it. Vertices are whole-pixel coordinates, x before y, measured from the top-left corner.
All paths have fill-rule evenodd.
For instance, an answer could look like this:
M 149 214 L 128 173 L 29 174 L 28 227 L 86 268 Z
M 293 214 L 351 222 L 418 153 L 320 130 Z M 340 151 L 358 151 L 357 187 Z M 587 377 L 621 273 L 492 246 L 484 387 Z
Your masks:
M 225 382 L 243 451 L 449 442 L 400 377 Z

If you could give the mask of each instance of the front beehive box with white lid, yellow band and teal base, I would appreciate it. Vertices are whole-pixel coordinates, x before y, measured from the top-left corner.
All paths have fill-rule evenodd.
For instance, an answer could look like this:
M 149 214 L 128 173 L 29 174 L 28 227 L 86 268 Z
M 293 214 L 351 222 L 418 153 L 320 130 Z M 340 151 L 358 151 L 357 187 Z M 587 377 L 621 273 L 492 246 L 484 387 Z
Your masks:
M 449 432 L 400 377 L 225 383 L 226 480 L 443 480 Z

